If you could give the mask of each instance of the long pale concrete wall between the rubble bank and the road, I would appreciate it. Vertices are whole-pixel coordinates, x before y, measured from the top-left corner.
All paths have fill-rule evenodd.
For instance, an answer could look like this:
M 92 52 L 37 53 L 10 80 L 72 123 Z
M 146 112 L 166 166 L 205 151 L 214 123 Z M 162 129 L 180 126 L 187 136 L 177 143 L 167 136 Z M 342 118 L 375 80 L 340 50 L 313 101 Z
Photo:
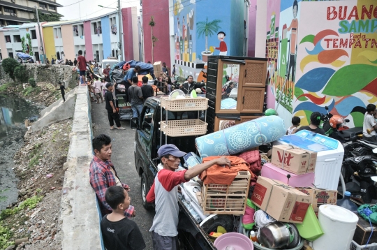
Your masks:
M 96 193 L 89 183 L 89 165 L 93 158 L 90 110 L 87 87 L 77 87 L 70 145 L 64 164 L 60 230 L 56 238 L 64 250 L 102 249 Z

